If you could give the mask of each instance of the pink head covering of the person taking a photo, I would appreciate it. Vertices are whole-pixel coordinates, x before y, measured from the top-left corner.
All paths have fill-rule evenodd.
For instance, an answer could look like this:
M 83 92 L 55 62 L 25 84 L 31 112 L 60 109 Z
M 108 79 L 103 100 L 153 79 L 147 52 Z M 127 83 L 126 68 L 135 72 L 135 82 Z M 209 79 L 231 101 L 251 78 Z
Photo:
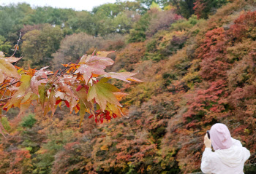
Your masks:
M 222 123 L 214 124 L 210 130 L 211 144 L 214 151 L 219 149 L 228 149 L 232 146 L 230 131 Z

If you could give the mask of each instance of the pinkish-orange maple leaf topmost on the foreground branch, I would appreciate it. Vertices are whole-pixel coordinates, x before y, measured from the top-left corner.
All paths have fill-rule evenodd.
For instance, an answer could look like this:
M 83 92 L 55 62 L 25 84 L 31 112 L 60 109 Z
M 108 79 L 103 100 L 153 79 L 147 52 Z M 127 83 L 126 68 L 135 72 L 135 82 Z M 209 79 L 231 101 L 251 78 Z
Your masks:
M 110 58 L 84 55 L 79 62 L 80 67 L 75 71 L 75 73 L 83 74 L 83 79 L 85 79 L 87 84 L 92 74 L 107 74 L 105 72 L 105 68 L 113 65 L 113 63 L 114 61 Z

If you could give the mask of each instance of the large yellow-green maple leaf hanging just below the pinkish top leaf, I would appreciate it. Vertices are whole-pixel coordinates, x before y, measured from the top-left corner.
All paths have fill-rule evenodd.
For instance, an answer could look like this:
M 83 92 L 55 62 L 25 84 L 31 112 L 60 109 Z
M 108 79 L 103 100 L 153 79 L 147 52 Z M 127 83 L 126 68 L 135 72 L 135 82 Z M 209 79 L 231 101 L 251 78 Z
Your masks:
M 93 84 L 89 88 L 88 92 L 88 100 L 93 100 L 95 98 L 95 101 L 99 104 L 99 107 L 102 109 L 102 111 L 105 111 L 107 102 L 121 106 L 121 104 L 116 99 L 116 96 L 113 94 L 113 92 L 120 92 L 120 90 L 107 82 L 107 78 L 100 79 L 97 84 Z

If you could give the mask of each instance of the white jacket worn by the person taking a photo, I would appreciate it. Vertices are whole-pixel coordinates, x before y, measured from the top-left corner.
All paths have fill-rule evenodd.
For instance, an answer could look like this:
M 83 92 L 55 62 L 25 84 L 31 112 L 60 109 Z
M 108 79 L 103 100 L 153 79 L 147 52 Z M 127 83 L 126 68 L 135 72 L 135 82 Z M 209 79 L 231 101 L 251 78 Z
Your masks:
M 233 146 L 229 149 L 211 151 L 206 148 L 203 152 L 201 170 L 212 174 L 244 174 L 244 162 L 250 157 L 250 152 L 240 141 L 232 138 Z

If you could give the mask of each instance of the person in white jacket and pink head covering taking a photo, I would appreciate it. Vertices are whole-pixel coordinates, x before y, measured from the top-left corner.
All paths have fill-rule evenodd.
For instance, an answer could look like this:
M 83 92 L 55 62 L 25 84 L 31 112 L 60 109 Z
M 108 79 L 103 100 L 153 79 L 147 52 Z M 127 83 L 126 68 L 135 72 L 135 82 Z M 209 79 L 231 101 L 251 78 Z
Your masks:
M 203 173 L 244 174 L 244 162 L 249 159 L 250 152 L 240 141 L 231 137 L 225 124 L 214 124 L 206 133 L 204 144 L 206 148 L 201 162 Z

